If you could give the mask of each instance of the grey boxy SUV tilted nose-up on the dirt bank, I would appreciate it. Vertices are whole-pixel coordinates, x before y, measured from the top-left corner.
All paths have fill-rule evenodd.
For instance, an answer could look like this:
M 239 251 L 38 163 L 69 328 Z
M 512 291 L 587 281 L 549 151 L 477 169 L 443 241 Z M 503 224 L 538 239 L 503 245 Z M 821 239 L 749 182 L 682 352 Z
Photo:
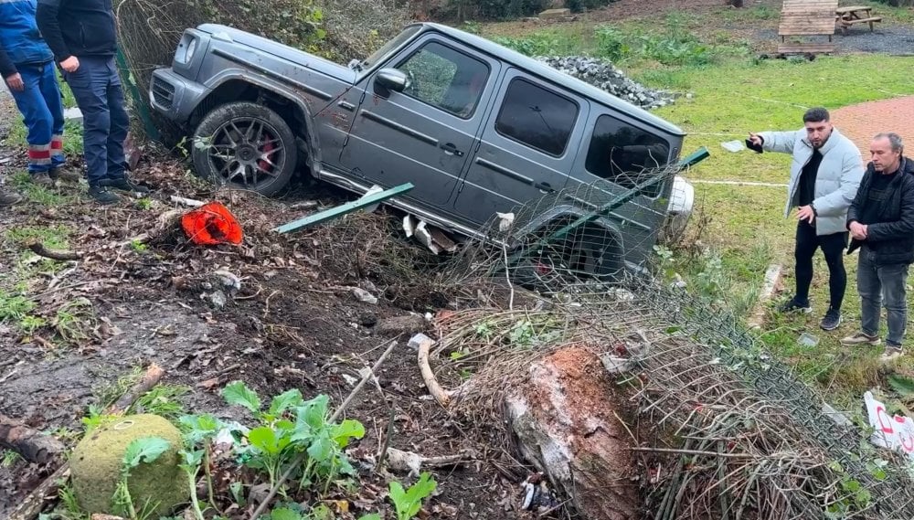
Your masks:
M 496 212 L 547 194 L 599 192 L 557 196 L 516 231 L 575 221 L 638 186 L 638 173 L 674 163 L 684 138 L 603 90 L 436 24 L 410 25 L 346 67 L 203 25 L 186 30 L 150 90 L 154 109 L 191 134 L 199 175 L 267 196 L 300 165 L 359 194 L 409 182 L 389 204 L 470 237 Z M 600 189 L 578 189 L 588 186 Z M 601 238 L 571 244 L 569 261 L 595 274 L 643 271 L 664 222 L 691 210 L 690 194 L 667 178 L 590 219 Z

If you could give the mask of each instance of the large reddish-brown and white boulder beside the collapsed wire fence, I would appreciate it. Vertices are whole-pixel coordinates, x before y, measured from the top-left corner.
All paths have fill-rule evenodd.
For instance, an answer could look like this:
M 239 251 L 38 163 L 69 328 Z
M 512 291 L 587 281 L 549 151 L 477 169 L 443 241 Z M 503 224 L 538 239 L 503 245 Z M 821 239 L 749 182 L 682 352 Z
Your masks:
M 580 347 L 534 363 L 505 399 L 522 455 L 582 517 L 639 517 L 630 437 L 613 415 L 623 401 L 600 359 Z

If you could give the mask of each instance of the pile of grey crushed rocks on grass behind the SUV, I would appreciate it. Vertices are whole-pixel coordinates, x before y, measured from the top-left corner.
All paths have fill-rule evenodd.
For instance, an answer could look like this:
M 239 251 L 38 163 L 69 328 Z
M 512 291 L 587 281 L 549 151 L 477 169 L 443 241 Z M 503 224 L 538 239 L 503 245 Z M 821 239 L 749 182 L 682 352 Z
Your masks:
M 651 110 L 663 107 L 674 101 L 674 96 L 670 92 L 651 90 L 630 80 L 622 70 L 617 69 L 605 59 L 580 56 L 538 59 L 554 69 L 586 81 L 598 89 L 606 90 L 613 96 L 643 109 Z

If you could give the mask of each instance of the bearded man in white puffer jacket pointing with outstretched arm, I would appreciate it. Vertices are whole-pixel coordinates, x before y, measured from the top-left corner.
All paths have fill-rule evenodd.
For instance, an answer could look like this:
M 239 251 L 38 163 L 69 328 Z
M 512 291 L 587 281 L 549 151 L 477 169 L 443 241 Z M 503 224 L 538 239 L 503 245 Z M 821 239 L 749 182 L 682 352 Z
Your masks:
M 804 128 L 795 132 L 750 133 L 749 144 L 759 152 L 793 156 L 784 217 L 797 208 L 793 253 L 796 294 L 781 306 L 781 312 L 813 311 L 809 302 L 813 255 L 821 248 L 828 264 L 830 302 L 820 326 L 830 331 L 841 324 L 841 302 L 847 286 L 843 260 L 847 208 L 863 178 L 863 159 L 856 145 L 834 128 L 825 109 L 810 109 L 802 119 Z

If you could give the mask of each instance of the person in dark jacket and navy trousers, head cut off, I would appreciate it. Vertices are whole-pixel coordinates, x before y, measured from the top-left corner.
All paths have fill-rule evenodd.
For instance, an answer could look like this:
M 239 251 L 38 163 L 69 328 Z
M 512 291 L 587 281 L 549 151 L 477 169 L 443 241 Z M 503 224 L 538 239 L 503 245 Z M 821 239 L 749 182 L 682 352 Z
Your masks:
M 114 67 L 112 0 L 38 0 L 37 22 L 82 111 L 90 196 L 113 204 L 119 198 L 109 188 L 148 193 L 126 176 L 123 141 L 130 119 Z

